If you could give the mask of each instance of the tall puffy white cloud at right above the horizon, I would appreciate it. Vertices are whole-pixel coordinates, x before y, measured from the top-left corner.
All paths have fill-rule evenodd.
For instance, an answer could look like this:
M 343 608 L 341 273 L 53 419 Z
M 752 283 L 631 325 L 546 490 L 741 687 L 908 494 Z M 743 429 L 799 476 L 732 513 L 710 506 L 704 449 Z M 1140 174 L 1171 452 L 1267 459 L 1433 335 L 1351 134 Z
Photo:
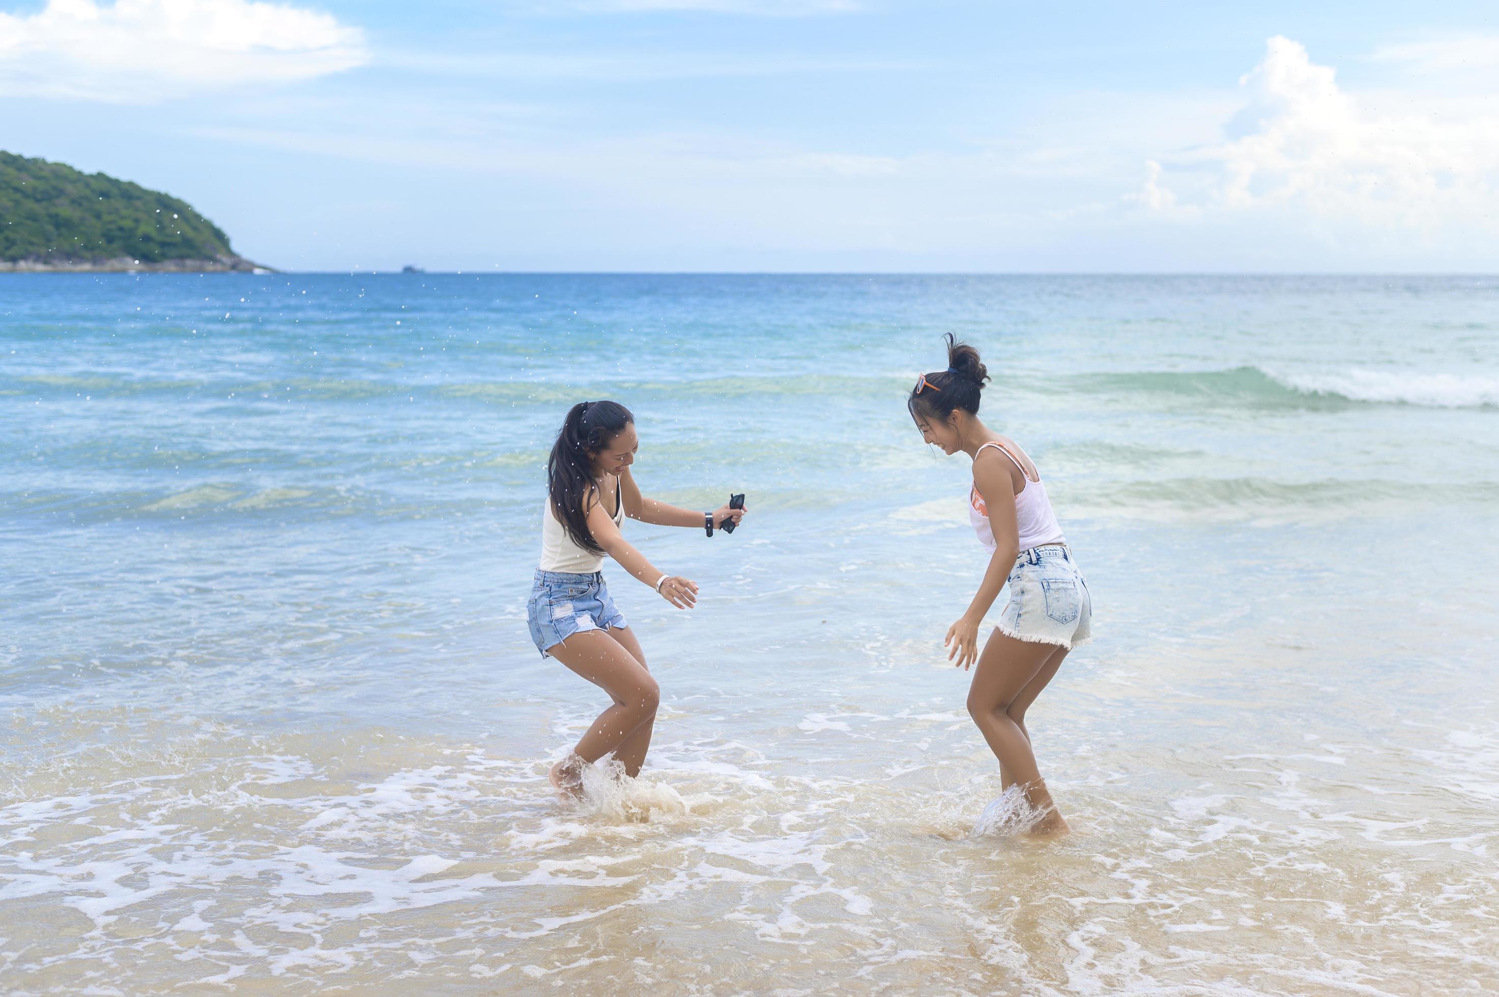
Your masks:
M 1333 67 L 1279 36 L 1240 85 L 1249 102 L 1226 138 L 1160 156 L 1132 199 L 1168 214 L 1277 214 L 1382 238 L 1471 226 L 1499 208 L 1499 102 L 1349 93 Z

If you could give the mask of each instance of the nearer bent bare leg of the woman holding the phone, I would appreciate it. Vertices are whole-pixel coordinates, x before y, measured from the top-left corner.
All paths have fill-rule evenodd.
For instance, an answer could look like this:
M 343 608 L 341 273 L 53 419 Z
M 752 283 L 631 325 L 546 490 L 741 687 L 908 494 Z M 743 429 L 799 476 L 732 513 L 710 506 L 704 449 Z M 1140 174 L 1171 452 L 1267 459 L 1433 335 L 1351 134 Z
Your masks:
M 573 756 L 552 766 L 552 783 L 558 792 L 576 798 L 582 790 L 579 766 L 600 760 L 634 733 L 636 727 L 652 721 L 661 702 L 661 690 L 636 657 L 601 630 L 573 634 L 552 646 L 549 654 L 615 700 L 579 739 Z

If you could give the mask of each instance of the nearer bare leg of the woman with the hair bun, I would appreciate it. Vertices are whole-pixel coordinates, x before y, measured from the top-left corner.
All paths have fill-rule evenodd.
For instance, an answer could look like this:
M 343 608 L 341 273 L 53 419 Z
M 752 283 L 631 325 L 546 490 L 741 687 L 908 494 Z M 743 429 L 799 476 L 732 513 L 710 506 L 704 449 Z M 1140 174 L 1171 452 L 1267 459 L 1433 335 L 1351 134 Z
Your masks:
M 1063 834 L 1067 823 L 1040 778 L 1030 738 L 1006 711 L 1058 649 L 1057 645 L 1016 640 L 995 630 L 983 645 L 968 688 L 968 714 L 1000 760 L 1000 771 L 1024 789 L 1025 801 L 1042 814 L 1034 828 L 1037 834 Z

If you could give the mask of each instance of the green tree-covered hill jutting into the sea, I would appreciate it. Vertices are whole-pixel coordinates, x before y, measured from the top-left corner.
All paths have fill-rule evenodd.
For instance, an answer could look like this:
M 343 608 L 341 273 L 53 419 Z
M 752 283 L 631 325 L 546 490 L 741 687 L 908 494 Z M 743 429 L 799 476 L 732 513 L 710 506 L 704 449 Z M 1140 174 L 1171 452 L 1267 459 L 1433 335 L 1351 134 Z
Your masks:
M 0 270 L 253 270 L 190 204 L 0 151 Z

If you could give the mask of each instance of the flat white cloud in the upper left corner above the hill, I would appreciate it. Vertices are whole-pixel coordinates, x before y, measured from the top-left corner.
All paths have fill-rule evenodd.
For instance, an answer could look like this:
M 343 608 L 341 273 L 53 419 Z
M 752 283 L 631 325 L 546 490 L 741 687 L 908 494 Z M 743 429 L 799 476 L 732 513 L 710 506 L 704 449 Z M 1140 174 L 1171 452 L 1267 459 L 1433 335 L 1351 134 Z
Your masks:
M 369 60 L 364 34 L 255 0 L 48 0 L 0 13 L 0 96 L 136 103 L 295 82 Z

